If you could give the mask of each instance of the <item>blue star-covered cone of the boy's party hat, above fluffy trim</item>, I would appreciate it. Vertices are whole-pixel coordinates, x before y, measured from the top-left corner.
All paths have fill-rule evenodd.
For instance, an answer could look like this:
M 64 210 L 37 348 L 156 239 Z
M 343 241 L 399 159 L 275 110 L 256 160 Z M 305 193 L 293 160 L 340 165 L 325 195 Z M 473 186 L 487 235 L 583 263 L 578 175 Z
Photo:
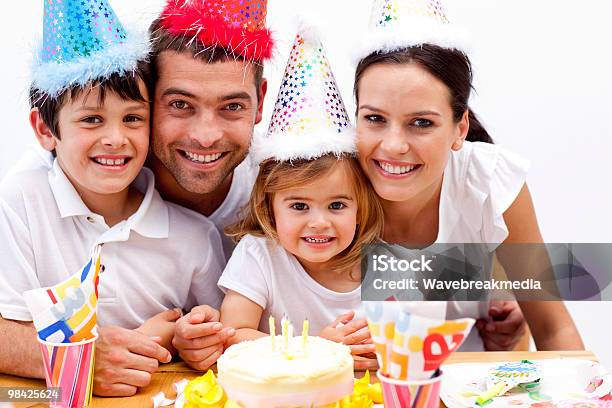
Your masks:
M 106 0 L 45 0 L 42 60 L 71 61 L 126 40 Z

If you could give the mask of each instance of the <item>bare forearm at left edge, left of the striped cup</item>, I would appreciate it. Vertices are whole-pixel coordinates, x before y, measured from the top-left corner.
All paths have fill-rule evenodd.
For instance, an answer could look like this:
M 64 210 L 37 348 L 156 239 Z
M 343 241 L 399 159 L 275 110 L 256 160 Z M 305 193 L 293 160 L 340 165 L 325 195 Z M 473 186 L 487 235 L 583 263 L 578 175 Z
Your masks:
M 0 333 L 0 372 L 45 378 L 34 324 L 0 317 Z

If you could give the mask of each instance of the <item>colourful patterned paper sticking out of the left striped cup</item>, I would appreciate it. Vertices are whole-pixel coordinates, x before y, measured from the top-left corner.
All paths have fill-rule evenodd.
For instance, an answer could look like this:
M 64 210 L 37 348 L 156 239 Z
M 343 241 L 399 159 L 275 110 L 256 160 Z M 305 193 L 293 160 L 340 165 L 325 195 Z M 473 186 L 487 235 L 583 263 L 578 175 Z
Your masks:
M 85 266 L 65 281 L 24 292 L 40 340 L 76 343 L 97 336 L 100 251 L 97 245 Z

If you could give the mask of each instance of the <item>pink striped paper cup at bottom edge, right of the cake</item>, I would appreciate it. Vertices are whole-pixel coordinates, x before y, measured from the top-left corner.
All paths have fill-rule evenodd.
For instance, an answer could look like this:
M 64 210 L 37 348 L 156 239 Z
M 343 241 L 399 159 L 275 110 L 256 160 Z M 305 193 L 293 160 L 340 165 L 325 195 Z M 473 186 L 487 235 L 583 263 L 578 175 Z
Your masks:
M 383 391 L 385 408 L 438 408 L 440 406 L 440 380 L 442 372 L 421 381 L 402 381 L 376 372 Z

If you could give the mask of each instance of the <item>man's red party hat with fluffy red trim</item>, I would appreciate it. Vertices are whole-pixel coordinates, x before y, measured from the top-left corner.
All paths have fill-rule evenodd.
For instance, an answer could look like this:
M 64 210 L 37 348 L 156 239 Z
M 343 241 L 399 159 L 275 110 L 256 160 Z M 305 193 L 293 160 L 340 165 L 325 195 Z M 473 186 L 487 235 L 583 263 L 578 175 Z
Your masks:
M 267 0 L 170 0 L 161 14 L 161 26 L 174 36 L 264 61 L 274 46 L 265 26 L 266 13 Z

